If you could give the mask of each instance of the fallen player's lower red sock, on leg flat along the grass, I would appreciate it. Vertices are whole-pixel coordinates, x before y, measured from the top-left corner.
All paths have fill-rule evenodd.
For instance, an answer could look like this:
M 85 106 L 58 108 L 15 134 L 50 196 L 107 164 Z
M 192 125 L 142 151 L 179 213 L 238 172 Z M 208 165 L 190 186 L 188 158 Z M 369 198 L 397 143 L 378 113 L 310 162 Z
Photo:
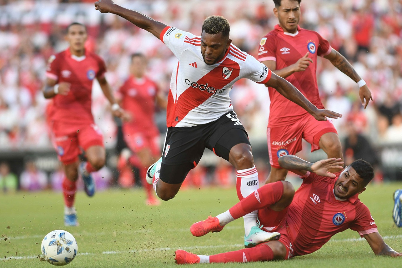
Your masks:
M 273 260 L 274 253 L 267 244 L 209 256 L 209 262 L 258 262 Z

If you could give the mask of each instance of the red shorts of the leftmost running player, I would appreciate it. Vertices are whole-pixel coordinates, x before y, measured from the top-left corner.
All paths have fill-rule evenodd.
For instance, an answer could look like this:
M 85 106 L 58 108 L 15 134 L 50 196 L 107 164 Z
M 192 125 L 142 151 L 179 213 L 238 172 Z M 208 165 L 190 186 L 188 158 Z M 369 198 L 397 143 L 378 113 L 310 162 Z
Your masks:
M 102 146 L 103 135 L 95 124 L 74 125 L 52 122 L 53 146 L 55 146 L 59 160 L 69 165 L 78 160 L 82 150 L 91 146 Z

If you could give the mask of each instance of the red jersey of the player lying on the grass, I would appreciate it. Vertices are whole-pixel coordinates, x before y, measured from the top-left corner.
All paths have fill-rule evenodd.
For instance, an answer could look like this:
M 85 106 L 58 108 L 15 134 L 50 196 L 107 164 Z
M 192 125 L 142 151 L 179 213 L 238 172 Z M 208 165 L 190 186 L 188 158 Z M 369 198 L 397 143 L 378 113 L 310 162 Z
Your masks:
M 338 177 L 307 172 L 301 178 L 303 183 L 295 192 L 286 218 L 294 256 L 315 252 L 346 229 L 357 231 L 360 236 L 377 232 L 377 225 L 358 194 L 343 201 L 335 198 L 333 190 Z

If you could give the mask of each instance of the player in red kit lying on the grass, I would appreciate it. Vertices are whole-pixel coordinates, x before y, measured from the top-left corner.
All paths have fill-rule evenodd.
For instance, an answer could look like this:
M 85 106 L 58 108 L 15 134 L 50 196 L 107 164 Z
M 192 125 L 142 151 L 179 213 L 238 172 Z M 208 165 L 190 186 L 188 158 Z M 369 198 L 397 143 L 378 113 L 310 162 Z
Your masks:
M 339 177 L 328 170 L 340 168 L 343 165 L 340 158 L 320 160 L 313 164 L 294 155 L 285 155 L 279 158 L 279 164 L 303 179 L 296 192 L 288 181 L 266 184 L 226 212 L 216 217 L 209 216 L 190 228 L 194 236 L 219 232 L 231 221 L 258 209 L 260 227 L 280 233 L 278 241 L 211 256 L 178 249 L 176 263 L 287 260 L 315 252 L 334 234 L 346 229 L 359 232 L 375 255 L 402 256 L 402 253 L 395 252 L 384 242 L 369 209 L 358 198 L 374 176 L 369 163 L 356 160 L 340 174 L 337 173 Z M 267 228 L 269 226 L 272 228 Z

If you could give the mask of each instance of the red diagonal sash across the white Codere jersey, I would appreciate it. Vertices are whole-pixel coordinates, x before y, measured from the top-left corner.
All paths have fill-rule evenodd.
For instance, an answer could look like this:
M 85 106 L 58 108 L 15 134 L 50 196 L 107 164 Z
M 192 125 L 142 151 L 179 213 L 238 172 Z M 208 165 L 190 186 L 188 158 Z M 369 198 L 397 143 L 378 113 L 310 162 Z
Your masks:
M 229 51 L 229 49 L 228 49 Z M 225 55 L 226 57 L 226 55 Z M 233 73 L 227 80 L 219 79 L 222 77 L 222 69 L 223 66 L 225 67 L 232 67 Z M 222 89 L 226 85 L 230 84 L 234 79 L 236 79 L 240 74 L 239 64 L 230 58 L 225 58 L 219 66 L 213 68 L 209 73 L 205 74 L 205 76 L 201 77 L 198 81 L 198 85 L 206 85 L 208 84 L 209 87 L 214 87 L 215 89 Z M 177 74 L 176 74 L 177 79 Z M 177 85 L 177 81 L 176 81 Z M 209 88 L 208 87 L 208 88 Z M 209 97 L 211 97 L 215 92 L 208 92 L 205 90 L 195 89 L 193 87 L 187 88 L 178 98 L 174 105 L 169 105 L 168 107 L 172 107 L 169 109 L 168 115 L 166 116 L 166 125 L 176 126 L 178 122 L 183 120 L 185 116 L 195 107 L 198 107 L 202 103 L 204 103 Z M 180 103 L 180 105 L 178 105 Z M 177 118 L 177 120 L 176 120 Z

